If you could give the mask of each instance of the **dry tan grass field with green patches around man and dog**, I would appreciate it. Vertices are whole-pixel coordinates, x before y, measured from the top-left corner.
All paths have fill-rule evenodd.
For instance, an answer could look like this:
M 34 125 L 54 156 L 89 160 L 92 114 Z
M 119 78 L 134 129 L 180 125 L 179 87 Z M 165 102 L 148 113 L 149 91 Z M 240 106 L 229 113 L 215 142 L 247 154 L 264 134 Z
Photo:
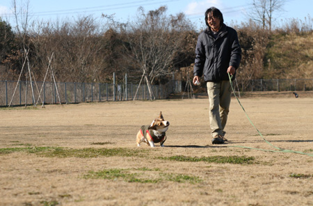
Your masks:
M 313 95 L 241 98 L 273 145 L 313 153 Z M 136 146 L 159 112 L 166 147 Z M 208 100 L 0 109 L 0 205 L 313 205 L 313 157 L 275 150 L 232 99 L 225 145 Z

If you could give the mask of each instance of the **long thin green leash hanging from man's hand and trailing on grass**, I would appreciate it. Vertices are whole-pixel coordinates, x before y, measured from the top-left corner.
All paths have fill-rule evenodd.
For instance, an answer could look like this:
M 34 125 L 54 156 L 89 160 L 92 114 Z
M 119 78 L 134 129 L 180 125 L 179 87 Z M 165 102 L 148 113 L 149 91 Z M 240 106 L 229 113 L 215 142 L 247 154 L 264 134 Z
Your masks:
M 236 97 L 236 100 L 239 102 L 241 108 L 243 109 L 244 113 L 246 114 L 246 117 L 248 118 L 250 124 L 255 127 L 255 125 L 253 124 L 253 122 L 250 120 L 248 113 L 246 113 L 246 110 L 243 108 L 241 102 L 239 101 L 238 97 L 236 96 L 236 93 L 234 92 L 234 88 L 232 86 L 232 77 L 230 77 L 230 73 L 228 73 L 228 77 L 230 78 L 230 86 L 232 87 L 232 93 L 234 93 L 234 96 Z M 309 154 L 309 153 L 305 153 L 305 152 L 298 152 L 298 151 L 294 151 L 294 150 L 284 150 L 282 148 L 278 148 L 276 146 L 274 146 L 273 144 L 271 144 L 269 141 L 266 140 L 266 138 L 264 138 L 264 136 L 261 134 L 261 132 L 259 132 L 259 129 L 257 129 L 257 127 L 255 127 L 255 129 L 257 130 L 257 133 L 259 134 L 259 136 L 261 136 L 263 138 L 263 140 L 268 143 L 268 145 L 271 145 L 271 147 L 275 148 L 276 150 L 263 150 L 263 149 L 259 149 L 259 148 L 249 148 L 249 147 L 245 147 L 245 146 L 240 146 L 240 145 L 233 145 L 233 146 L 227 146 L 227 147 L 233 147 L 233 148 L 246 148 L 246 149 L 250 149 L 250 150 L 262 150 L 262 151 L 266 151 L 266 152 L 286 152 L 286 153 L 296 153 L 296 154 L 305 154 L 307 156 L 311 156 L 313 157 L 313 154 Z

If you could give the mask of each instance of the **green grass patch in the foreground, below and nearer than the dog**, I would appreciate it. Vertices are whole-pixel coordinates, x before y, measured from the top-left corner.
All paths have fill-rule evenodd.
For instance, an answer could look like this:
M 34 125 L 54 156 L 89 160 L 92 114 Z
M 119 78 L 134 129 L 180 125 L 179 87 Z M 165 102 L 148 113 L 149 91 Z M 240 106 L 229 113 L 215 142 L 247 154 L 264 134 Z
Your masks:
M 140 169 L 135 169 L 141 171 Z M 173 173 L 155 173 L 159 169 L 148 169 L 143 168 L 145 173 L 132 173 L 131 169 L 105 169 L 103 171 L 89 171 L 88 174 L 83 175 L 84 179 L 104 179 L 114 181 L 125 181 L 125 182 L 137 182 L 137 183 L 158 183 L 158 182 L 179 182 L 179 183 L 190 183 L 195 184 L 202 182 L 200 177 L 173 174 Z M 149 173 L 152 171 L 152 173 Z M 154 173 L 153 173 L 154 172 Z

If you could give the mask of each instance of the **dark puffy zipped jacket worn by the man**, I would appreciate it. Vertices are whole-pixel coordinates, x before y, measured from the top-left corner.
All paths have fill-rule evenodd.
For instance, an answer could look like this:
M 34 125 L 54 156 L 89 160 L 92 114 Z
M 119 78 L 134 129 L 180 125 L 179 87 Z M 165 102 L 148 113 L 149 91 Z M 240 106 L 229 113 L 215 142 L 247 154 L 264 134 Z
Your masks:
M 201 77 L 204 74 L 204 81 L 227 81 L 227 68 L 232 65 L 237 70 L 240 61 L 241 47 L 236 31 L 223 24 L 215 39 L 208 27 L 198 37 L 193 75 Z

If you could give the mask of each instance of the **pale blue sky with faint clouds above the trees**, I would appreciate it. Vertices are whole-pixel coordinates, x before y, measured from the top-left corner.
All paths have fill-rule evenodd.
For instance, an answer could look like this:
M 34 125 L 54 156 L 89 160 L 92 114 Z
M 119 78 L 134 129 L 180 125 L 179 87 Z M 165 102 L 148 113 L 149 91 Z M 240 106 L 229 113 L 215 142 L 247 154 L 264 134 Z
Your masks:
M 18 5 L 26 0 L 16 0 Z M 287 21 L 291 18 L 304 20 L 307 15 L 313 17 L 313 0 L 285 0 L 284 11 L 279 13 L 277 22 Z M 115 20 L 127 22 L 134 19 L 139 6 L 145 11 L 155 10 L 160 6 L 168 6 L 168 14 L 176 15 L 185 13 L 191 22 L 198 27 L 204 25 L 204 12 L 207 8 L 215 6 L 221 10 L 226 24 L 240 24 L 247 22 L 247 13 L 251 8 L 252 0 L 29 0 L 29 13 L 31 20 L 44 19 L 71 19 L 79 15 L 93 15 L 101 17 L 102 13 L 114 15 Z M 0 1 L 0 17 L 10 24 L 14 24 L 14 18 L 10 15 L 12 0 Z

